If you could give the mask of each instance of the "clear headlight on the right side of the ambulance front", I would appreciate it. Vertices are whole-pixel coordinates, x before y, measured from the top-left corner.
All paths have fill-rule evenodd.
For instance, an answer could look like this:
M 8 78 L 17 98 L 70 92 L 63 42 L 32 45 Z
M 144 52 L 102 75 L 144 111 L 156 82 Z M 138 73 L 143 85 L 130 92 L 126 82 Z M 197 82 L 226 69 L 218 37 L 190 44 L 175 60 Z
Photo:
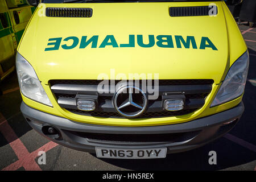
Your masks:
M 249 68 L 249 53 L 246 51 L 239 57 L 229 69 L 225 80 L 222 82 L 212 105 L 210 107 L 223 104 L 240 97 L 245 90 L 245 83 Z

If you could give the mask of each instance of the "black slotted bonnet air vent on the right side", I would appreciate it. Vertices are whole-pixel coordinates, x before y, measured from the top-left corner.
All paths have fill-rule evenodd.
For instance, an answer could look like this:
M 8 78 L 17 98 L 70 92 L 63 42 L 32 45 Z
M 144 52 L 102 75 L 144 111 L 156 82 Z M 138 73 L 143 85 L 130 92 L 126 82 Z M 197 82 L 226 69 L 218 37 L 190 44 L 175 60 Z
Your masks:
M 209 16 L 217 15 L 217 6 L 170 7 L 170 16 Z

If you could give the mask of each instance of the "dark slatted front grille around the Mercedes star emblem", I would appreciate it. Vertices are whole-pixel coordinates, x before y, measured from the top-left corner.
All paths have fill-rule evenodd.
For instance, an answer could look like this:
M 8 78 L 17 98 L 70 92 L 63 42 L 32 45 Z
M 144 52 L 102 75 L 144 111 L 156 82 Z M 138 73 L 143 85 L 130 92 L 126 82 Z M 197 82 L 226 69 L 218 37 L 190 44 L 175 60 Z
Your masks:
M 114 93 L 100 94 L 97 92 L 97 85 L 100 82 L 101 80 L 50 80 L 49 84 L 60 107 L 71 113 L 102 118 L 125 118 L 119 115 L 113 106 Z M 115 81 L 115 84 L 117 83 L 118 81 Z M 147 109 L 136 118 L 171 117 L 193 113 L 205 104 L 205 98 L 212 90 L 213 80 L 158 80 L 158 84 L 159 97 L 156 100 L 148 100 Z M 163 97 L 166 93 L 183 94 L 185 96 L 184 109 L 180 111 L 164 110 Z M 97 96 L 96 110 L 77 109 L 77 97 L 88 95 Z

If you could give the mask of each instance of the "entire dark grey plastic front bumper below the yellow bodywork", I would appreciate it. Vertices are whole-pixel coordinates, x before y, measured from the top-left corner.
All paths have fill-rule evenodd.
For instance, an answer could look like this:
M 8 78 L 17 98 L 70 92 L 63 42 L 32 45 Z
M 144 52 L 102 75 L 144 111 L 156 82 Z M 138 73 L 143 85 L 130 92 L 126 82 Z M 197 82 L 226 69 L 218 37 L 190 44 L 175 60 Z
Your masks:
M 133 149 L 167 147 L 167 153 L 175 153 L 203 146 L 227 133 L 240 119 L 244 106 L 241 102 L 232 109 L 190 122 L 145 127 L 79 123 L 33 109 L 24 102 L 22 102 L 20 110 L 28 124 L 38 133 L 53 142 L 75 150 L 95 153 L 96 146 Z M 60 137 L 46 136 L 42 131 L 44 126 L 55 127 L 59 131 Z M 161 140 L 162 138 L 163 140 Z

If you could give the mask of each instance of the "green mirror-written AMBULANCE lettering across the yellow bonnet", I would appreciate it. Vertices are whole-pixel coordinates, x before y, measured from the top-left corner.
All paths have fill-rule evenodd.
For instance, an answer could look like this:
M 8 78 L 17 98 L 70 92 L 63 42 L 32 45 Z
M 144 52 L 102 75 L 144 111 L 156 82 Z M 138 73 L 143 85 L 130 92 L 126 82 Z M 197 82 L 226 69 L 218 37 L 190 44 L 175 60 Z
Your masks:
M 139 47 L 150 48 L 158 46 L 161 48 L 193 48 L 193 49 L 212 49 L 217 51 L 212 41 L 208 37 L 201 37 L 201 41 L 196 43 L 194 36 L 183 37 L 181 35 L 148 35 L 147 38 L 143 38 L 142 35 L 137 35 L 137 45 Z M 81 39 L 76 36 L 69 36 L 67 38 L 50 38 L 48 39 L 47 47 L 44 51 L 56 51 L 59 49 L 73 49 L 86 47 L 90 48 L 123 48 L 123 47 L 135 47 L 135 35 L 129 35 L 129 43 L 119 43 L 115 39 L 114 35 L 106 35 L 102 42 L 98 41 L 99 36 L 94 35 L 90 38 L 88 36 L 82 36 Z

